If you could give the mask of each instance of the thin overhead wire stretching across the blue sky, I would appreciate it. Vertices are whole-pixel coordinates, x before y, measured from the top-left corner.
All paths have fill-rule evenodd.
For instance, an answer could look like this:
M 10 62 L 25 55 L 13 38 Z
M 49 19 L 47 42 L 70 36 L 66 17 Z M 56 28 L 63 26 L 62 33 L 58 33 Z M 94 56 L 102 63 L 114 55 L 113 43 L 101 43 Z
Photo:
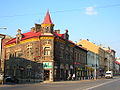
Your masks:
M 113 4 L 113 5 L 106 5 L 106 6 L 98 6 L 95 8 L 110 8 L 110 7 L 117 7 L 120 6 L 120 4 Z M 87 8 L 87 7 L 86 7 Z M 72 11 L 79 11 L 85 8 L 78 8 L 78 9 L 69 9 L 69 10 L 60 10 L 60 11 L 53 11 L 51 13 L 60 13 L 60 12 L 72 12 Z M 38 13 L 36 13 L 38 14 Z M 9 17 L 18 17 L 18 16 L 28 16 L 28 15 L 36 15 L 35 13 L 31 13 L 31 14 L 19 14 L 19 15 L 8 15 L 8 16 L 0 16 L 0 18 L 9 18 Z M 39 13 L 40 14 L 40 13 Z

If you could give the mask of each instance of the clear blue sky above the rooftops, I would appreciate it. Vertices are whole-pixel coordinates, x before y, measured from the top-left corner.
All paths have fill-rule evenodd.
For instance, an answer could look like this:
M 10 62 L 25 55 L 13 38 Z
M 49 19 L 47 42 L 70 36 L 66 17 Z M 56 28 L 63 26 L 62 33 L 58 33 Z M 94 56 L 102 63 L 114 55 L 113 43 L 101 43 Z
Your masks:
M 120 57 L 120 0 L 0 0 L 0 33 L 15 37 L 17 29 L 29 32 L 47 10 L 54 29 L 68 29 L 73 42 L 89 39 Z

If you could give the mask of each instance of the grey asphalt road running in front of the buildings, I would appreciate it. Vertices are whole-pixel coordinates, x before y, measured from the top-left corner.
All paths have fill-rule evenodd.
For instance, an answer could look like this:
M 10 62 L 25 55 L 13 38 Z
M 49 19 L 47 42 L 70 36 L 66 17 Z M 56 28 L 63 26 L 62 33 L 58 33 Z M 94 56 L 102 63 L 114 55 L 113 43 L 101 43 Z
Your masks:
M 0 90 L 120 90 L 120 78 L 3 85 Z

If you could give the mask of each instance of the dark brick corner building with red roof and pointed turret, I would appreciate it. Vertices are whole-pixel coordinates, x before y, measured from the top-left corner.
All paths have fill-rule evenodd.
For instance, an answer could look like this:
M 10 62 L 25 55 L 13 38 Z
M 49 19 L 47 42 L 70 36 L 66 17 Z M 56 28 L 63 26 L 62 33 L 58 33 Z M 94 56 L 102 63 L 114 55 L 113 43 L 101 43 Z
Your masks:
M 30 32 L 21 33 L 5 45 L 5 75 L 19 81 L 70 80 L 85 78 L 87 50 L 69 40 L 68 30 L 61 34 L 54 30 L 49 12 L 41 24 L 35 24 Z M 42 64 L 42 66 L 41 66 Z

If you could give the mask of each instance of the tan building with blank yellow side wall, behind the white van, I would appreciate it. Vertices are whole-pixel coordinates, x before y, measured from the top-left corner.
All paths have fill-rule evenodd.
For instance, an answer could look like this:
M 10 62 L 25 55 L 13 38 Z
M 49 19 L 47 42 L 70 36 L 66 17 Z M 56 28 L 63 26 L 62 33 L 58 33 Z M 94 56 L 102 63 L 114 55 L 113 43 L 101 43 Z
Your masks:
M 96 45 L 89 40 L 80 40 L 77 45 L 81 45 L 87 50 L 94 52 L 99 57 L 99 73 L 100 75 L 104 75 L 105 71 L 115 70 L 115 51 L 112 49 L 108 49 L 105 47 L 102 47 L 101 45 Z M 89 59 L 88 59 L 89 60 Z M 87 61 L 88 61 L 87 60 Z

